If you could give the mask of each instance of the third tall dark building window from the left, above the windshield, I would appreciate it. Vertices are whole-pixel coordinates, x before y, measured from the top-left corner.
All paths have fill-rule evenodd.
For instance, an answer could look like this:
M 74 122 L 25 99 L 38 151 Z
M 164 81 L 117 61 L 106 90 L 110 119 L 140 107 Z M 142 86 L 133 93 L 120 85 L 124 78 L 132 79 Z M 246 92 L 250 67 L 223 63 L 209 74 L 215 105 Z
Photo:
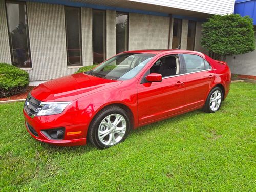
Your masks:
M 93 16 L 93 63 L 101 63 L 106 58 L 106 12 L 92 10 Z

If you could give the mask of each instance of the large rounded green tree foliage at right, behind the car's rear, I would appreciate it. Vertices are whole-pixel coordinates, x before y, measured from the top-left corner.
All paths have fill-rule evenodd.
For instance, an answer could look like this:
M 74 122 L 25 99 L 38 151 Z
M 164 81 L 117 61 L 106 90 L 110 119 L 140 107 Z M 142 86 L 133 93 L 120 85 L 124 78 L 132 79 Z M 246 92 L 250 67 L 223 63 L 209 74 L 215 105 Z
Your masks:
M 252 19 L 239 14 L 213 15 L 202 25 L 201 45 L 225 57 L 255 49 Z

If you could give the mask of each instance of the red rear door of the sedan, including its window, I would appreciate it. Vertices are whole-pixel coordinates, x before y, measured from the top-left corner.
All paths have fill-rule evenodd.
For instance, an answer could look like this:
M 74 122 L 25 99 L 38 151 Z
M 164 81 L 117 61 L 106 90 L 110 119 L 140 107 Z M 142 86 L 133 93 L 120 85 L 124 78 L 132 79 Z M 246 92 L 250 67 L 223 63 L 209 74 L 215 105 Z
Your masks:
M 215 71 L 199 55 L 182 54 L 182 56 L 186 71 L 185 108 L 196 108 L 204 104 L 211 84 L 215 79 Z

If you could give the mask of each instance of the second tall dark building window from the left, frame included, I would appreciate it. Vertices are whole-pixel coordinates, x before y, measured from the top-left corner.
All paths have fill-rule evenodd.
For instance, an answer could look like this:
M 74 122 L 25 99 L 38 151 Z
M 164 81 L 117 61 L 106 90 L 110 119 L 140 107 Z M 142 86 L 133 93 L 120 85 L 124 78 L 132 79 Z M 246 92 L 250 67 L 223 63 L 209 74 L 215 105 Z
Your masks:
M 68 66 L 82 65 L 81 9 L 65 6 Z

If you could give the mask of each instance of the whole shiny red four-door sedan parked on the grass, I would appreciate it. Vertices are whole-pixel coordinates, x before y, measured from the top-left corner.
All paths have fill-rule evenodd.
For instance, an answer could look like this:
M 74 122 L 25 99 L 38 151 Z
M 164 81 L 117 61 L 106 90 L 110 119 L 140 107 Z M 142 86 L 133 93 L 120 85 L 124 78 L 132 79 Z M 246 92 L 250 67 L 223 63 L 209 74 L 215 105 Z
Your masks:
M 42 142 L 111 147 L 140 126 L 196 109 L 218 111 L 230 77 L 225 62 L 200 52 L 126 51 L 34 88 L 24 105 L 25 124 Z

